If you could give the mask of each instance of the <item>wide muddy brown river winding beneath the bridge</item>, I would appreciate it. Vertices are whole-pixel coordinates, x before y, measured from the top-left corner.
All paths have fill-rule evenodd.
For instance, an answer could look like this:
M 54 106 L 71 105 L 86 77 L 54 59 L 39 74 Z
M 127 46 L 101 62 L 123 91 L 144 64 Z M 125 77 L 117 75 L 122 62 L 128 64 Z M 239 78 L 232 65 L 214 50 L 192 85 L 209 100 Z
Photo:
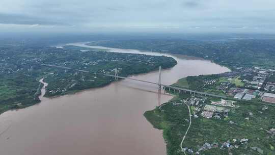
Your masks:
M 87 46 L 84 43 L 70 45 Z M 173 57 L 178 64 L 162 70 L 161 81 L 166 85 L 188 75 L 230 71 L 210 61 L 182 55 L 108 49 Z M 158 82 L 158 71 L 131 77 Z M 156 85 L 130 80 L 56 98 L 41 96 L 40 104 L 0 115 L 0 154 L 164 155 L 166 145 L 162 131 L 153 128 L 143 114 L 172 97 L 162 90 L 159 98 Z

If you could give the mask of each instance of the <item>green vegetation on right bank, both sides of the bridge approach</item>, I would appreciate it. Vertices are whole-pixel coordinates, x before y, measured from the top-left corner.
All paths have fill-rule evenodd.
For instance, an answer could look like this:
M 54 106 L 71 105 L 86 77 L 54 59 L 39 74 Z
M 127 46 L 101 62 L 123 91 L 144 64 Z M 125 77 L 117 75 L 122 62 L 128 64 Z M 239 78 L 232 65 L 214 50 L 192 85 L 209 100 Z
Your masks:
M 178 87 L 204 91 L 212 94 L 226 96 L 231 88 L 243 87 L 242 73 L 225 73 L 213 75 L 188 76 L 173 84 Z M 272 75 L 270 76 L 272 78 Z M 223 91 L 222 91 L 223 90 Z M 171 91 L 169 93 L 174 93 Z M 184 154 L 180 143 L 188 127 L 188 109 L 182 103 L 182 99 L 190 98 L 188 94 L 175 94 L 174 100 L 147 111 L 144 115 L 155 128 L 163 130 L 163 138 L 167 143 L 167 154 Z M 194 96 L 193 96 L 194 97 Z M 196 97 L 195 97 L 196 98 Z M 198 97 L 197 97 L 198 98 Z M 221 98 L 205 97 L 205 104 L 211 101 L 221 101 Z M 236 108 L 230 110 L 225 116 L 221 112 L 214 112 L 220 119 L 210 119 L 201 116 L 202 110 L 196 112 L 196 108 L 203 109 L 205 104 L 190 105 L 192 124 L 183 142 L 183 148 L 187 148 L 186 154 L 274 154 L 275 132 L 275 108 L 272 105 L 261 104 L 260 98 L 252 101 L 235 100 Z M 190 102 L 186 102 L 190 104 Z M 218 106 L 220 107 L 220 106 Z M 248 139 L 248 142 L 241 142 Z M 227 146 L 228 144 L 228 146 Z M 210 146 L 210 147 L 206 147 Z M 191 151 L 188 151 L 191 150 Z

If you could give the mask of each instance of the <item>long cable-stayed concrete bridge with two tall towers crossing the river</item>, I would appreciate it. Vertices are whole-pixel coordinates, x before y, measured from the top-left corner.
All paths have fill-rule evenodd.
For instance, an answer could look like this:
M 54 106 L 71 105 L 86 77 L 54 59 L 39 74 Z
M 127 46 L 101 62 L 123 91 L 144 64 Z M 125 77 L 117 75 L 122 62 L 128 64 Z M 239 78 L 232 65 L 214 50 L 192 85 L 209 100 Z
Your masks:
M 48 67 L 60 68 L 60 69 L 69 69 L 69 70 L 75 70 L 75 71 L 80 71 L 80 72 L 85 72 L 85 73 L 91 73 L 90 71 L 87 71 L 87 70 L 73 69 L 73 68 L 64 67 L 64 66 L 48 65 L 48 64 L 42 64 L 42 65 L 43 66 L 48 66 Z M 209 94 L 209 93 L 205 93 L 205 92 L 200 92 L 200 91 L 195 91 L 195 90 L 180 88 L 180 87 L 176 87 L 176 86 L 163 85 L 163 84 L 161 84 L 161 67 L 160 66 L 159 66 L 158 83 L 150 82 L 150 81 L 144 81 L 144 80 L 139 80 L 139 79 L 133 79 L 131 77 L 118 76 L 118 70 L 117 69 L 115 69 L 115 75 L 104 74 L 104 73 L 96 73 L 96 74 L 114 77 L 116 81 L 118 79 L 128 79 L 128 80 L 133 80 L 133 81 L 139 81 L 139 82 L 154 84 L 154 85 L 158 85 L 159 88 L 163 88 L 164 90 L 169 90 L 169 91 L 172 90 L 174 92 L 179 92 L 179 93 L 190 93 L 190 94 L 195 94 L 195 95 L 197 94 L 197 95 L 204 95 L 204 96 L 211 96 L 211 97 L 218 97 L 218 98 L 227 98 L 226 96 Z

